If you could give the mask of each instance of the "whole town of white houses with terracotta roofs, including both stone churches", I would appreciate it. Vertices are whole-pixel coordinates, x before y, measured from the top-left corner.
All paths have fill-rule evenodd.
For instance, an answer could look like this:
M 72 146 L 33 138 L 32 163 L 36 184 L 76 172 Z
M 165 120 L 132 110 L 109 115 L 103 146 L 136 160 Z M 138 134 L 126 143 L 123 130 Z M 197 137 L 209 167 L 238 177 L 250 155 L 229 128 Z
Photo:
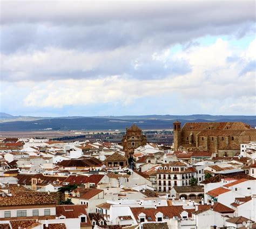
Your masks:
M 177 120 L 172 137 L 2 138 L 0 229 L 256 228 L 256 129 Z

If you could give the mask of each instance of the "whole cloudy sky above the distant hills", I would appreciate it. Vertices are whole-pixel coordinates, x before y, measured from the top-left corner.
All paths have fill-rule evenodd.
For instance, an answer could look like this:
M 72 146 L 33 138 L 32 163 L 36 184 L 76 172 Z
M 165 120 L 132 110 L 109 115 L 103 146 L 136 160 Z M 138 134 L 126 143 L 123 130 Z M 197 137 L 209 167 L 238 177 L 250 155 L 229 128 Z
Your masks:
M 1 1 L 0 112 L 256 114 L 255 1 Z

